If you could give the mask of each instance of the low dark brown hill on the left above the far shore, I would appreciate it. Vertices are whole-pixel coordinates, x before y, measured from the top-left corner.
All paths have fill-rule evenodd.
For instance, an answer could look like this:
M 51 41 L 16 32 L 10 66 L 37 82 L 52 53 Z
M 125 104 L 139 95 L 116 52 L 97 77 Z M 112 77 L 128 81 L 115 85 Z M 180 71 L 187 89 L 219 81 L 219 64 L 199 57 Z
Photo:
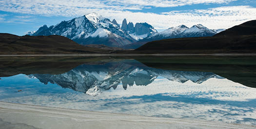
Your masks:
M 0 33 L 0 55 L 8 54 L 87 54 L 108 53 L 62 36 L 16 36 Z

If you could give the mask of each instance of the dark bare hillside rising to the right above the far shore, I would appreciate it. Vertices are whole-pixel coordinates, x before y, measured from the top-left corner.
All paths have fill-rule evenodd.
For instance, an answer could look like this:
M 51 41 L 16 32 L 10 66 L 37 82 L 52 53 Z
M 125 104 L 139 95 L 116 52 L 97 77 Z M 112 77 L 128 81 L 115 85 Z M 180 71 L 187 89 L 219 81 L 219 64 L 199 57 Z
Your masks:
M 256 53 L 256 20 L 245 22 L 214 37 L 163 39 L 148 42 L 135 53 Z

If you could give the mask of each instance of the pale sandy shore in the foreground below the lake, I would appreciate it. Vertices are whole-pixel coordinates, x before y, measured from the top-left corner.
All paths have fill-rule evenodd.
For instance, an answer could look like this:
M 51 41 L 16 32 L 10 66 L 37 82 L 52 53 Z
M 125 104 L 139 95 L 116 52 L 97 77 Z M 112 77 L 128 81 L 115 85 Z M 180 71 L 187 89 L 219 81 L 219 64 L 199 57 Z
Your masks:
M 0 102 L 0 129 L 256 129 L 256 126 Z

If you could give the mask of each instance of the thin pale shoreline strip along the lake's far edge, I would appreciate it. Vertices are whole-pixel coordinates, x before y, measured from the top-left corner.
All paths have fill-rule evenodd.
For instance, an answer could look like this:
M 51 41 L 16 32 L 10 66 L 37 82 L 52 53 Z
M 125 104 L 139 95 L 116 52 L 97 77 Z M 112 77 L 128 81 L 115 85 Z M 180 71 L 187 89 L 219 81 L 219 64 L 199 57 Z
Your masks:
M 48 55 L 40 55 L 40 54 L 28 54 L 28 55 L 0 55 L 0 56 L 256 56 L 256 53 L 252 54 L 48 54 Z

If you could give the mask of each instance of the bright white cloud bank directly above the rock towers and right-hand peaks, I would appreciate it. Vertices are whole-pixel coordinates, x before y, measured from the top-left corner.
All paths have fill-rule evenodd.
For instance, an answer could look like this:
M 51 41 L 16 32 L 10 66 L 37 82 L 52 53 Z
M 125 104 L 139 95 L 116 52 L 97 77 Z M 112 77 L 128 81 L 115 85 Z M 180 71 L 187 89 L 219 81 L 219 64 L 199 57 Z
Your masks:
M 162 14 L 128 11 L 102 12 L 101 14 L 116 18 L 118 23 L 121 23 L 123 18 L 133 22 L 147 22 L 156 29 L 167 29 L 180 24 L 191 27 L 199 23 L 210 29 L 227 29 L 245 21 L 256 19 L 256 8 L 224 6 L 204 10 L 172 11 Z

